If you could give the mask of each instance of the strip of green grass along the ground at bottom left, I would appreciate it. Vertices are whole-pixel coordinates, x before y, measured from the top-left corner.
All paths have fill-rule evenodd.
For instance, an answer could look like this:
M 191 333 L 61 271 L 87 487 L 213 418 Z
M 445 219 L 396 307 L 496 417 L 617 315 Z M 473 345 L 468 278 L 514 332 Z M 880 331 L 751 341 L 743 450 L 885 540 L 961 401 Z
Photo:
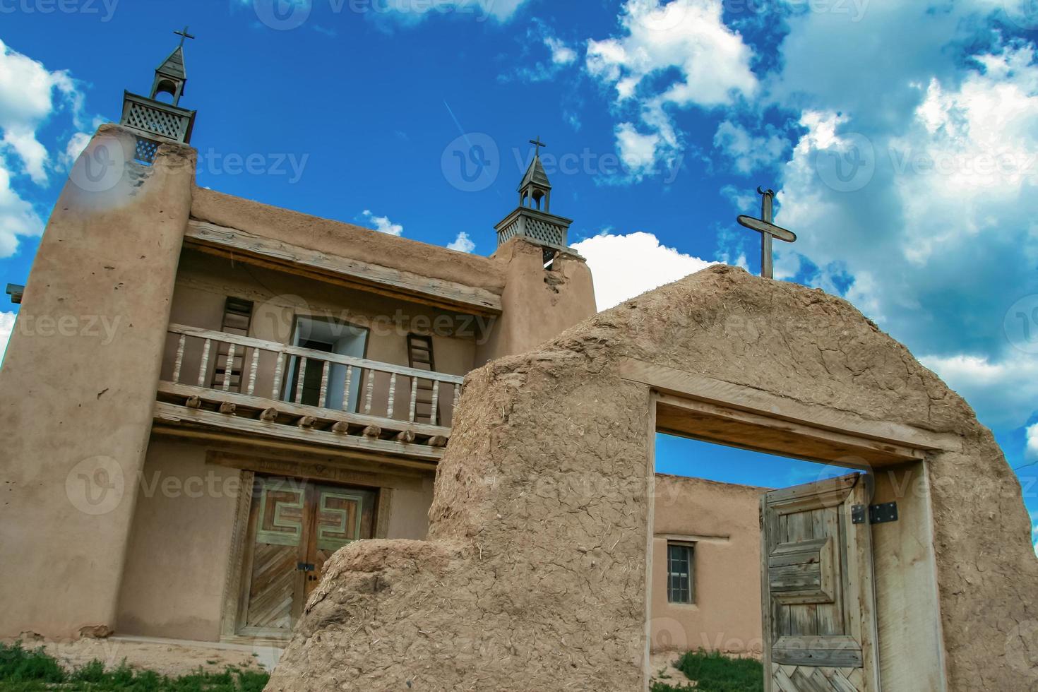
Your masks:
M 270 679 L 260 670 L 228 666 L 223 672 L 197 672 L 167 677 L 152 670 L 134 670 L 124 662 L 105 670 L 101 661 L 66 671 L 43 647 L 27 649 L 17 641 L 0 643 L 0 692 L 262 692 Z

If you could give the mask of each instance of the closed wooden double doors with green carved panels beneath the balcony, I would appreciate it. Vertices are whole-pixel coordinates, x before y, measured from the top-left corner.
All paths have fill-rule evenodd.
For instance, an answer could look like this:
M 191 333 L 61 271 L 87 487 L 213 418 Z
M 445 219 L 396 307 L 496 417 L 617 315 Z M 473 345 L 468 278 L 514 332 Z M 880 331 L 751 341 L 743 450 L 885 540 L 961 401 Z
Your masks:
M 288 636 L 324 563 L 374 533 L 376 493 L 257 476 L 244 559 L 239 634 Z

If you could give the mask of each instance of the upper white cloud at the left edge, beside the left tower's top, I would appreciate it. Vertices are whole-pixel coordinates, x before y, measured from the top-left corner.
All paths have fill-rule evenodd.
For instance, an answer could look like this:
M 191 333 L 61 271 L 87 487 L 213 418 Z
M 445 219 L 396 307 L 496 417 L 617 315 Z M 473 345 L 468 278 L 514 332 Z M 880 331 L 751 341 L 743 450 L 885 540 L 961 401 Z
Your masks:
M 0 40 L 0 131 L 3 148 L 37 185 L 47 183 L 50 160 L 36 131 L 52 113 L 70 106 L 78 117 L 82 96 L 67 72 L 10 50 Z

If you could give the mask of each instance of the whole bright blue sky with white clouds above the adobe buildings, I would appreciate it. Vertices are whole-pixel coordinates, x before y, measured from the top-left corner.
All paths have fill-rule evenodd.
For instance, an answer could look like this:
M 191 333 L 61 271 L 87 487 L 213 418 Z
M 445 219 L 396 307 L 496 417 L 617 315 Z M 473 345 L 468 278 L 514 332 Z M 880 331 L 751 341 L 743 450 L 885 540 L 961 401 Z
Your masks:
M 772 187 L 777 276 L 852 301 L 1038 475 L 1032 0 L 0 0 L 0 281 L 185 24 L 200 185 L 489 254 L 540 135 L 600 307 L 758 271 L 735 217 Z

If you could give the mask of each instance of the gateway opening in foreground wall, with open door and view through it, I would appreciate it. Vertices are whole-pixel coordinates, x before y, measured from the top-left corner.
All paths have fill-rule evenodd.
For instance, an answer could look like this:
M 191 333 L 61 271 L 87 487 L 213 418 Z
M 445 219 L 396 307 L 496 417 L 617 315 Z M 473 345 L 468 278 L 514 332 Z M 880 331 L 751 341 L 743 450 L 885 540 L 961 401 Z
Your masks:
M 663 393 L 652 414 L 650 675 L 702 649 L 768 692 L 943 689 L 926 450 Z

